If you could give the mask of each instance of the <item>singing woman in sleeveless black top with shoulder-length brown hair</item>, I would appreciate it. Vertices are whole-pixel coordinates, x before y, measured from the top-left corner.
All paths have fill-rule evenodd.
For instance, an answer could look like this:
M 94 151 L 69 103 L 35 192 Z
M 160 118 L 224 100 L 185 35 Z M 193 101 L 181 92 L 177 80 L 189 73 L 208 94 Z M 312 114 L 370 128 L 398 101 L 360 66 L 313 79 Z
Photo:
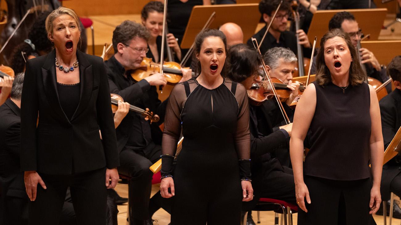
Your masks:
M 323 36 L 317 67 L 297 104 L 290 141 L 298 224 L 369 224 L 381 203 L 384 152 L 376 92 L 340 29 Z

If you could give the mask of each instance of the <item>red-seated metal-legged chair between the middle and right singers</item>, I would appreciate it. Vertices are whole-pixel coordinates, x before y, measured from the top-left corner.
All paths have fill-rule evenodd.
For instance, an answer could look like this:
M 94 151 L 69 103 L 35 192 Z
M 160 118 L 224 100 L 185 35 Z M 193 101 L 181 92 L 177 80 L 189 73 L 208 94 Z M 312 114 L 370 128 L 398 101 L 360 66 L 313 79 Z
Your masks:
M 278 225 L 277 211 L 280 211 L 280 209 L 283 211 L 282 223 L 284 221 L 284 225 L 292 225 L 292 211 L 298 211 L 298 205 L 295 205 L 294 203 L 278 199 L 260 198 L 259 202 L 256 204 L 255 208 L 252 209 L 252 211 L 257 211 L 257 223 L 260 223 L 259 211 L 275 211 L 274 224 Z M 247 215 L 248 212 L 245 212 L 244 217 L 241 218 L 241 225 L 247 224 Z

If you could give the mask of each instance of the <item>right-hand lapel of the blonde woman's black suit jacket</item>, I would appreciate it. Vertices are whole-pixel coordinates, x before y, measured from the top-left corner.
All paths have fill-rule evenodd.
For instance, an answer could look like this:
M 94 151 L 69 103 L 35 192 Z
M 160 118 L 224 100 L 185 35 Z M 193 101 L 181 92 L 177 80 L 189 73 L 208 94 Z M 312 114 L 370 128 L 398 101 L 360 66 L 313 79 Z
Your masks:
M 79 97 L 79 104 L 75 110 L 71 121 L 75 119 L 87 107 L 91 98 L 93 86 L 93 66 L 89 63 L 85 54 L 77 51 L 77 59 L 79 62 L 79 81 L 81 82 L 81 94 Z

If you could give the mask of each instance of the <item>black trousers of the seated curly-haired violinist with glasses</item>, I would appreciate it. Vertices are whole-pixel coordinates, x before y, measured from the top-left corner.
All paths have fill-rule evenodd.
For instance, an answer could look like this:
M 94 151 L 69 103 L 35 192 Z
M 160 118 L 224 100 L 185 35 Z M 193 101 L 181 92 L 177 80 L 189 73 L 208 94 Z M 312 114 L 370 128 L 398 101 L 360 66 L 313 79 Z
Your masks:
M 162 147 L 150 143 L 145 149 L 133 150 L 124 148 L 120 153 L 118 173 L 131 177 L 128 201 L 130 201 L 131 218 L 140 222 L 151 219 L 149 215 L 149 199 L 152 192 L 153 173 L 149 169 L 162 155 Z

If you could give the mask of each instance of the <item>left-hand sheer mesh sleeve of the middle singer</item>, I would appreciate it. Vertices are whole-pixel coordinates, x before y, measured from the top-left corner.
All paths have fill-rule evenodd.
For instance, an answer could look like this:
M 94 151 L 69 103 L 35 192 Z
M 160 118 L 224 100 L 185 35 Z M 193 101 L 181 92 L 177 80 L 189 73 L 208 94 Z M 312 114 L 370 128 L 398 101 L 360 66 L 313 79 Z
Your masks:
M 172 176 L 172 164 L 181 135 L 180 114 L 186 100 L 184 84 L 174 86 L 166 106 L 162 140 L 162 178 Z

